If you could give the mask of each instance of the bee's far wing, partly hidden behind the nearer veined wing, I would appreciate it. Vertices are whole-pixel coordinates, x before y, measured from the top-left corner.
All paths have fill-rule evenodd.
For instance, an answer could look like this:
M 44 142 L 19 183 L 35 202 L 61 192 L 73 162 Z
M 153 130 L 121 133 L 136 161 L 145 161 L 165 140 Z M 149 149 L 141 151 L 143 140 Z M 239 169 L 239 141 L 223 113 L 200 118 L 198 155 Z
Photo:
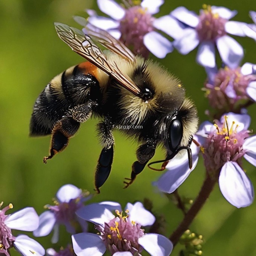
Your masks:
M 84 27 L 84 34 L 89 35 L 94 41 L 99 42 L 102 46 L 111 50 L 111 52 L 115 52 L 120 55 L 127 61 L 135 61 L 135 55 L 122 42 L 116 40 L 116 38 L 108 32 L 100 29 L 99 27 L 93 26 L 83 17 L 74 16 L 74 20 Z

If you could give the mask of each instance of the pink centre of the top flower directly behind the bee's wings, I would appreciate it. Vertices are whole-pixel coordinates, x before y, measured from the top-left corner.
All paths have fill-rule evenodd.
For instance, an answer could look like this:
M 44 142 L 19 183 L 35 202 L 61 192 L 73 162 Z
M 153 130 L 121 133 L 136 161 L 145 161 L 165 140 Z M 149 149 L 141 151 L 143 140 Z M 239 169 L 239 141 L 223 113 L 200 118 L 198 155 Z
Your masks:
M 147 57 L 149 51 L 143 44 L 143 37 L 154 30 L 153 20 L 154 17 L 141 6 L 132 6 L 126 9 L 125 16 L 120 20 L 120 40 L 127 47 L 131 47 L 135 54 Z

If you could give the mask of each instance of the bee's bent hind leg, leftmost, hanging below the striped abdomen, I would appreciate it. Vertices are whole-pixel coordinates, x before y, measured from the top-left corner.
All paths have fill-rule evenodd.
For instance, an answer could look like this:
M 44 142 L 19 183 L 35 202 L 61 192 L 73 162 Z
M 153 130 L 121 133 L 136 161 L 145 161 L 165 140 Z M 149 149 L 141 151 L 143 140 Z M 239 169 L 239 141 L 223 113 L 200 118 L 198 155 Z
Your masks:
M 80 123 L 85 122 L 92 113 L 96 102 L 89 100 L 85 104 L 78 105 L 69 110 L 66 117 L 59 120 L 52 129 L 50 142 L 50 155 L 44 157 L 44 163 L 58 152 L 63 151 L 69 143 L 69 139 L 78 131 Z

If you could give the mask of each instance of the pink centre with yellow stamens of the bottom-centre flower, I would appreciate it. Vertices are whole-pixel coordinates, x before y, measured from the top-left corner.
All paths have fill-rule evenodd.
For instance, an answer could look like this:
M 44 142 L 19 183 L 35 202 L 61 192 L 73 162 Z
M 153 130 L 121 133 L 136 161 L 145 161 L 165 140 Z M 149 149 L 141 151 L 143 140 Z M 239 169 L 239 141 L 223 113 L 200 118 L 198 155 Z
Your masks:
M 144 230 L 140 228 L 140 224 L 130 221 L 129 215 L 122 216 L 122 212 L 119 213 L 118 210 L 116 213 L 119 217 L 105 223 L 104 229 L 97 227 L 106 247 L 111 254 L 117 251 L 130 251 L 133 255 L 141 253 L 143 248 L 138 239 L 144 235 Z

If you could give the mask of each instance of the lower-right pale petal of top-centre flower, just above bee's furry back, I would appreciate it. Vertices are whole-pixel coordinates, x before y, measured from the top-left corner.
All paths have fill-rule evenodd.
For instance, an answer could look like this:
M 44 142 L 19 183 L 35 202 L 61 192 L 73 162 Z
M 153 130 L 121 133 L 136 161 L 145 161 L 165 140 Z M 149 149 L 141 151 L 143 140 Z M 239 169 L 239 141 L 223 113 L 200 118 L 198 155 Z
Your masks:
M 143 43 L 157 58 L 165 58 L 166 54 L 173 50 L 172 43 L 155 31 L 146 34 Z

